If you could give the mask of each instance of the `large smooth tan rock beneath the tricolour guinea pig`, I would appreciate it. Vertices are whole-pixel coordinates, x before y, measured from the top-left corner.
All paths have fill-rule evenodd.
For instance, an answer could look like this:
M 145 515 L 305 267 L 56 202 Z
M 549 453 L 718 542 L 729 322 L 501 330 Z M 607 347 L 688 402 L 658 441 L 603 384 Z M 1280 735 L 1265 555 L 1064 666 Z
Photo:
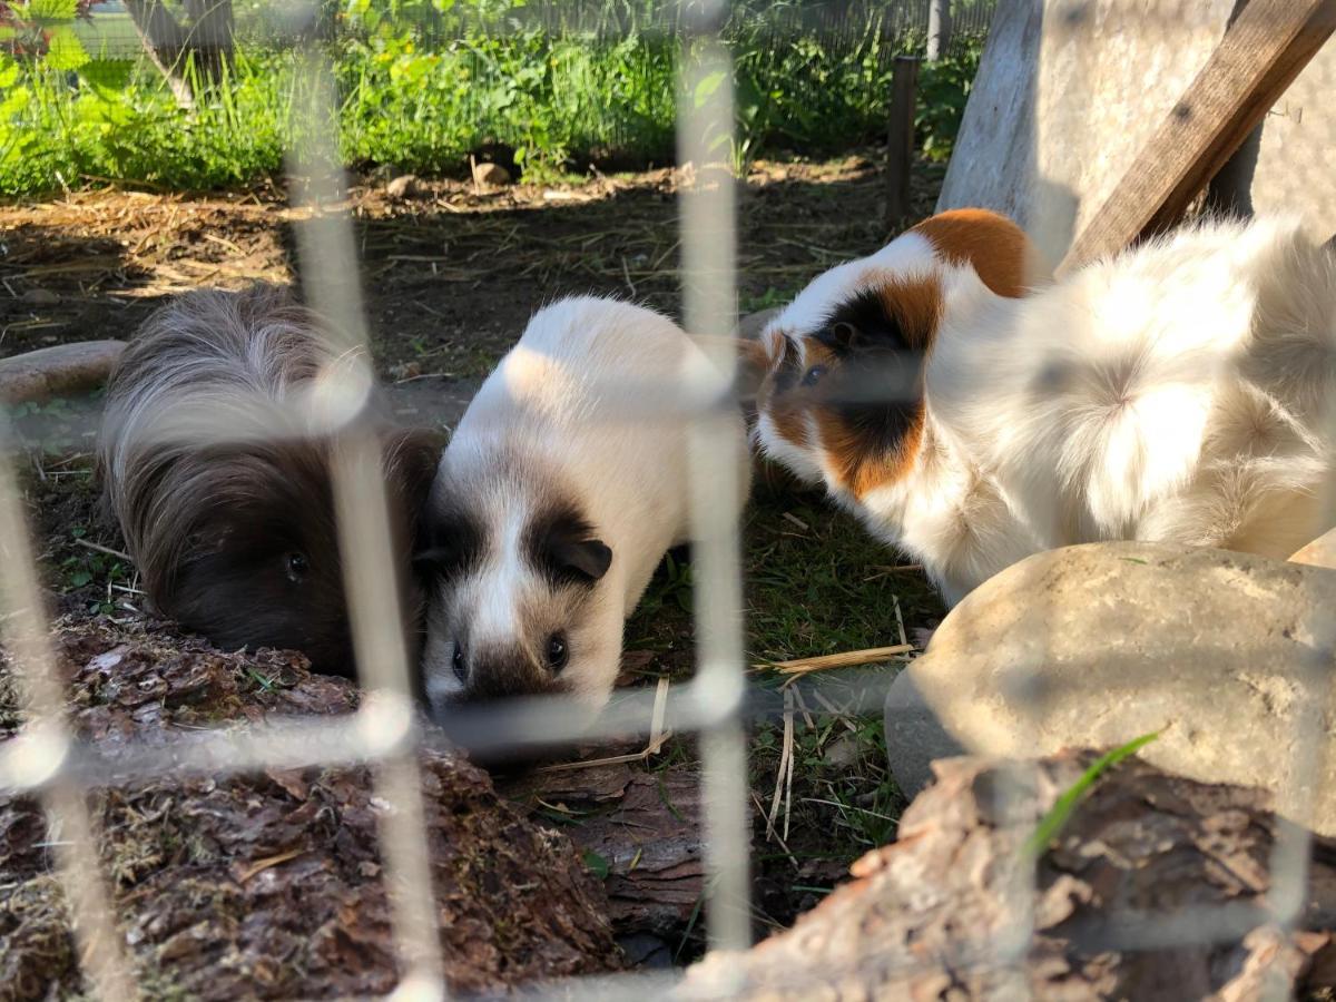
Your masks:
M 1312 818 L 1336 834 L 1336 572 L 1240 553 L 1113 542 L 1030 557 L 951 611 L 886 705 L 891 770 L 1109 747 L 1204 782 L 1288 791 L 1312 764 Z M 1317 752 L 1315 760 L 1305 755 Z

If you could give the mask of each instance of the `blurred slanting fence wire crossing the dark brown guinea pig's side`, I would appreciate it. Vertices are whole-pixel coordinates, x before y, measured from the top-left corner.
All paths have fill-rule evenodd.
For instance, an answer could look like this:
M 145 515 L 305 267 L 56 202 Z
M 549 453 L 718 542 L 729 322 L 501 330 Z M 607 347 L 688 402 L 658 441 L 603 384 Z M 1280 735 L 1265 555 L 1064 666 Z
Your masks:
M 322 424 L 339 428 L 330 470 L 338 522 L 343 584 L 353 647 L 365 691 L 358 709 L 367 745 L 383 758 L 373 767 L 378 795 L 390 806 L 381 815 L 386 891 L 394 908 L 394 941 L 402 979 L 397 995 L 446 994 L 432 863 L 426 844 L 422 784 L 417 766 L 413 685 L 401 624 L 402 596 L 394 568 L 389 505 L 375 437 L 357 424 L 370 405 L 374 375 L 361 297 L 358 258 L 338 156 L 338 108 L 333 72 L 318 55 L 307 57 L 311 76 L 307 148 L 294 151 L 293 171 L 306 178 L 310 215 L 297 226 L 301 273 L 314 310 L 333 321 L 327 335 L 345 351 L 346 365 L 322 373 L 317 403 Z M 379 758 L 379 756 L 378 756 Z

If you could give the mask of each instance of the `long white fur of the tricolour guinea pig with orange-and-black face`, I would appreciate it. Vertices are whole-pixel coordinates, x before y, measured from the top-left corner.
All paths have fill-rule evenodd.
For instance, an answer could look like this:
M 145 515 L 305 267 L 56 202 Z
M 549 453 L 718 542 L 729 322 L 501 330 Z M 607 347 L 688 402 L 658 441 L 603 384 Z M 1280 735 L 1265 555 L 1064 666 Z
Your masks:
M 931 266 L 946 306 L 921 453 L 863 498 L 827 484 L 949 603 L 1054 546 L 1162 540 L 1283 558 L 1332 525 L 1336 259 L 1296 220 L 1185 228 L 1023 299 L 969 266 Z M 855 290 L 830 274 L 767 335 L 803 331 L 795 315 Z M 790 465 L 772 426 L 759 437 Z

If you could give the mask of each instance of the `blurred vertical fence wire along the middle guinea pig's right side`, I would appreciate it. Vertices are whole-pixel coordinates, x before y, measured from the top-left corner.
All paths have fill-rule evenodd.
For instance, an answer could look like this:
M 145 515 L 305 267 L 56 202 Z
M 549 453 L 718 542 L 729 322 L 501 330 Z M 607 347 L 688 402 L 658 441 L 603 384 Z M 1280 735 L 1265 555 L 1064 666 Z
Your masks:
M 683 318 L 705 335 L 713 365 L 735 366 L 727 341 L 736 322 L 736 230 L 732 63 L 717 37 L 727 7 L 712 0 L 684 12 L 688 29 L 680 64 L 677 163 L 692 178 L 679 194 Z M 727 385 L 727 383 L 725 383 Z M 709 945 L 743 950 L 751 943 L 751 878 L 747 832 L 747 745 L 737 712 L 744 693 L 741 554 L 737 526 L 743 468 L 733 424 L 717 407 L 692 422 L 689 480 L 697 667 L 693 693 L 727 716 L 701 735 L 707 851 L 705 912 Z

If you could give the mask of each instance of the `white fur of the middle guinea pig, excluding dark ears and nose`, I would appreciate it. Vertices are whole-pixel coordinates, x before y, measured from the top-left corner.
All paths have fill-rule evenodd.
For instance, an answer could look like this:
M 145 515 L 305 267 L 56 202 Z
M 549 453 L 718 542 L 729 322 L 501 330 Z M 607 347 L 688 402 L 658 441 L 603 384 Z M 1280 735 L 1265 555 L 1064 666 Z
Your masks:
M 713 371 L 677 325 L 643 307 L 582 297 L 533 317 L 469 405 L 437 473 L 434 502 L 464 498 L 500 542 L 429 607 L 422 671 L 433 704 L 464 688 L 450 667 L 452 608 L 469 617 L 473 647 L 520 639 L 536 651 L 550 629 L 565 631 L 570 661 L 561 685 L 592 708 L 607 701 L 625 617 L 664 553 L 689 538 L 688 367 Z M 745 466 L 741 413 L 721 426 L 724 448 Z M 558 496 L 573 496 L 612 548 L 612 564 L 588 597 L 556 595 L 524 558 L 528 514 Z

